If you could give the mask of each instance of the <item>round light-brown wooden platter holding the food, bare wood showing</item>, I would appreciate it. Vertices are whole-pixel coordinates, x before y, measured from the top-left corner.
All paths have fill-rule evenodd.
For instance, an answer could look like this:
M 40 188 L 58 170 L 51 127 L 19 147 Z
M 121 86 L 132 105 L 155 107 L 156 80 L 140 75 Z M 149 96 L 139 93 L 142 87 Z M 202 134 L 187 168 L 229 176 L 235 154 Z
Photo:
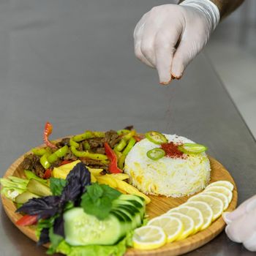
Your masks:
M 20 163 L 23 161 L 24 155 L 17 159 L 7 170 L 7 172 L 4 174 L 4 178 L 7 178 L 8 176 L 17 176 L 20 178 L 25 178 L 25 175 L 23 173 L 23 169 L 20 166 Z M 223 167 L 216 159 L 209 157 L 211 162 L 211 181 L 230 181 L 234 185 L 233 189 L 233 199 L 230 202 L 229 207 L 227 208 L 227 211 L 233 211 L 236 208 L 237 204 L 237 189 L 236 184 L 233 181 L 232 176 L 230 176 L 230 173 Z M 164 197 L 164 196 L 150 196 L 151 197 L 151 203 L 148 204 L 146 207 L 146 214 L 148 214 L 149 219 L 153 217 L 157 217 L 161 214 L 164 214 L 166 211 L 170 210 L 170 208 L 176 207 L 181 205 L 181 203 L 187 202 L 189 197 Z M 14 223 L 17 222 L 22 215 L 16 214 L 16 206 L 15 203 L 12 203 L 11 200 L 9 200 L 4 195 L 1 195 L 1 200 L 4 206 L 4 211 L 6 212 L 7 216 L 11 219 L 11 221 Z M 37 241 L 37 237 L 35 235 L 35 228 L 34 227 L 20 227 L 17 226 L 18 229 L 23 232 L 26 236 L 31 238 L 34 241 Z M 219 233 L 222 232 L 222 230 L 225 227 L 225 222 L 223 221 L 222 217 L 219 217 L 216 221 L 214 221 L 211 226 L 209 226 L 206 230 L 200 231 L 199 233 L 196 233 L 193 236 L 189 236 L 188 238 L 176 241 L 170 244 L 166 244 L 165 246 L 160 247 L 159 249 L 154 250 L 138 250 L 138 249 L 128 249 L 126 255 L 132 256 L 132 255 L 181 255 L 186 252 L 190 252 L 194 249 L 197 249 L 200 246 L 203 246 L 204 244 L 208 243 L 208 241 L 211 241 L 213 238 L 215 238 Z M 47 245 L 46 245 L 47 246 Z

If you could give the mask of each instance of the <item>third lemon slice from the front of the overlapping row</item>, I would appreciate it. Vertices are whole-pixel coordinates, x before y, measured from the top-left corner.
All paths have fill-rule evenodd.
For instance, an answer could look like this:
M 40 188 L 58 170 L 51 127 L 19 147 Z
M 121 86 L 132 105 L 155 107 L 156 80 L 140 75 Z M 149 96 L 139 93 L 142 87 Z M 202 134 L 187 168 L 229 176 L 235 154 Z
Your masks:
M 178 238 L 176 238 L 176 241 L 187 238 L 189 235 L 194 233 L 195 224 L 194 224 L 194 221 L 191 217 L 188 217 L 187 215 L 180 214 L 180 213 L 174 212 L 174 211 L 173 212 L 167 212 L 165 214 L 165 216 L 176 217 L 176 218 L 180 219 L 182 224 L 183 224 L 183 227 L 184 227 L 183 232 L 181 233 L 180 236 L 178 236 Z

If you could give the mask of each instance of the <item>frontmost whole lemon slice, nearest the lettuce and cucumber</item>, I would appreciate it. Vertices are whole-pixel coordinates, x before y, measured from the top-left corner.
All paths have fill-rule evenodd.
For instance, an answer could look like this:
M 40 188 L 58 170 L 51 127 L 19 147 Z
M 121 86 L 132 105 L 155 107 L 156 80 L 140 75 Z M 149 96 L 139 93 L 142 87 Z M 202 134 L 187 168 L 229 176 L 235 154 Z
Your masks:
M 135 229 L 132 242 L 135 249 L 157 249 L 166 243 L 166 235 L 161 227 L 147 225 Z

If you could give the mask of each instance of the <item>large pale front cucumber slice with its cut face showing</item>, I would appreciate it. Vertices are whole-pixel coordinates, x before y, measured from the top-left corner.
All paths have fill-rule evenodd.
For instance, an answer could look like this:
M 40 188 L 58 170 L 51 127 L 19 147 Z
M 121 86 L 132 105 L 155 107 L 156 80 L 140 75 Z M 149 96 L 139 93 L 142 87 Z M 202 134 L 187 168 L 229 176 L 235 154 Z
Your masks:
M 124 226 L 118 217 L 110 214 L 99 220 L 76 207 L 64 213 L 65 240 L 73 246 L 88 244 L 115 244 L 124 236 Z

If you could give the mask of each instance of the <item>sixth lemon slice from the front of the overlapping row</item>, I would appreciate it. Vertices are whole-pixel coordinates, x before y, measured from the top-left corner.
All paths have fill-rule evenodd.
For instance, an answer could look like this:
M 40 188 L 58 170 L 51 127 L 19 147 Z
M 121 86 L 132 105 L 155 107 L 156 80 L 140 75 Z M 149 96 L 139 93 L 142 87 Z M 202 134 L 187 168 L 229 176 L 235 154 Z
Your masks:
M 219 216 L 222 215 L 223 211 L 223 203 L 222 200 L 220 200 L 217 197 L 213 197 L 212 195 L 203 195 L 203 193 L 194 195 L 193 197 L 190 197 L 189 202 L 191 201 L 200 201 L 200 202 L 205 202 L 208 203 L 208 205 L 211 207 L 211 210 L 214 213 L 214 216 L 212 217 L 212 221 L 217 219 Z

